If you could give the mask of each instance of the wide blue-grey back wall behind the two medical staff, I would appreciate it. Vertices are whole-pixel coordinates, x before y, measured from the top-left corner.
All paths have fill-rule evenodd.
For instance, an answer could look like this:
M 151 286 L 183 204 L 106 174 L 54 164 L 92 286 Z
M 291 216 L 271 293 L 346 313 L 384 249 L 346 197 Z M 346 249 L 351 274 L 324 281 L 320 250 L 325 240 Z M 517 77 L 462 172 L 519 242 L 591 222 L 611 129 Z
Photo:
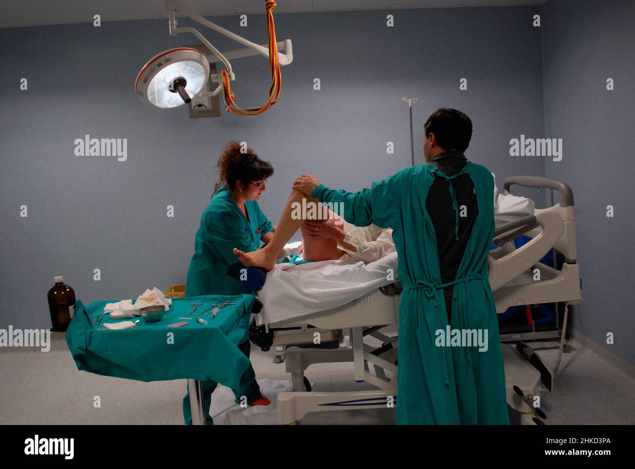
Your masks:
M 198 42 L 169 36 L 167 20 L 0 30 L 0 327 L 50 327 L 46 292 L 54 275 L 64 275 L 84 303 L 184 283 L 217 179 L 214 165 L 230 139 L 245 140 L 273 163 L 276 173 L 262 196 L 273 221 L 302 172 L 354 191 L 409 165 L 402 96 L 419 99 L 417 163 L 425 119 L 448 106 L 471 116 L 467 156 L 495 171 L 499 182 L 544 175 L 542 158 L 509 156 L 509 139 L 544 132 L 541 32 L 531 25 L 539 11 L 394 10 L 392 28 L 385 26 L 387 11 L 277 14 L 278 37 L 291 38 L 295 53 L 282 70 L 281 99 L 261 116 L 210 119 L 189 119 L 187 109 L 152 110 L 135 97 L 133 82 L 149 58 Z M 238 27 L 238 17 L 213 20 L 266 42 L 264 15 L 250 15 L 247 29 Z M 201 31 L 220 50 L 239 47 Z M 262 104 L 267 60 L 233 65 L 238 104 Z M 19 90 L 21 78 L 29 79 L 27 91 Z M 320 91 L 312 89 L 314 78 L 321 79 Z M 467 91 L 459 90 L 460 78 L 468 79 Z M 127 138 L 128 160 L 74 156 L 74 140 L 85 134 Z M 389 140 L 394 155 L 386 154 Z M 29 217 L 19 216 L 21 205 Z M 166 217 L 167 205 L 174 205 L 174 218 Z M 100 282 L 93 280 L 95 268 Z

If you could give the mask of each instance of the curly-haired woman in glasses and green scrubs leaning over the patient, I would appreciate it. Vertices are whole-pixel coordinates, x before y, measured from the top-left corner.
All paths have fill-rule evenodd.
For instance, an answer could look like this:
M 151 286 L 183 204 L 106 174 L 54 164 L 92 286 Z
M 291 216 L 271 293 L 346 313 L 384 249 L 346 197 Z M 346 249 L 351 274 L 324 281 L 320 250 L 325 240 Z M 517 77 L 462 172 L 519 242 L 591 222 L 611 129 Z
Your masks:
M 257 250 L 260 241 L 271 240 L 274 228 L 258 207 L 258 199 L 265 187 L 265 180 L 274 172 L 270 163 L 262 161 L 251 149 L 241 153 L 238 142 L 229 142 L 218 160 L 220 180 L 214 194 L 201 215 L 201 226 L 194 240 L 194 255 L 190 261 L 185 282 L 185 296 L 236 295 L 252 293 L 243 287 L 236 276 L 242 267 L 232 253 L 232 248 Z M 239 344 L 239 349 L 249 358 L 250 342 Z M 216 381 L 204 381 L 203 395 L 208 425 L 211 393 Z M 271 404 L 262 397 L 253 367 L 244 372 L 239 389 L 232 390 L 237 402 L 244 396 L 250 405 Z M 189 390 L 188 390 L 189 392 Z M 183 400 L 185 423 L 192 424 L 189 394 Z

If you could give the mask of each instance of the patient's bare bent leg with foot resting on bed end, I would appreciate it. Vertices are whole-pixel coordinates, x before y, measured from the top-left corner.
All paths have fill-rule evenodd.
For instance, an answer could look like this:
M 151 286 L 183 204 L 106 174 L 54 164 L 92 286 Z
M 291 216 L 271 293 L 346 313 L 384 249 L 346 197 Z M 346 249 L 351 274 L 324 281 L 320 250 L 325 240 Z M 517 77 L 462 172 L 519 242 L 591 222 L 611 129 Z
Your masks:
M 302 200 L 305 200 L 304 204 Z M 314 207 L 319 206 L 318 199 L 311 198 L 299 191 L 292 190 L 289 199 L 286 201 L 280 221 L 276 225 L 276 229 L 272 231 L 272 236 L 269 238 L 269 243 L 262 249 L 251 252 L 243 252 L 234 248 L 234 254 L 245 266 L 257 266 L 266 269 L 267 271 L 274 268 L 276 265 L 276 259 L 280 252 L 283 250 L 284 245 L 291 239 L 291 236 L 295 235 L 298 228 L 305 222 L 304 215 L 297 207 Z M 295 209 L 295 210 L 294 210 Z M 320 217 L 324 215 L 317 214 L 314 220 L 324 220 L 327 217 Z M 268 233 L 269 234 L 269 233 Z M 326 261 L 328 259 L 339 259 L 343 252 L 337 248 L 337 241 L 335 239 L 314 238 L 312 236 L 302 236 L 302 244 L 304 247 L 304 253 L 302 257 L 305 261 Z

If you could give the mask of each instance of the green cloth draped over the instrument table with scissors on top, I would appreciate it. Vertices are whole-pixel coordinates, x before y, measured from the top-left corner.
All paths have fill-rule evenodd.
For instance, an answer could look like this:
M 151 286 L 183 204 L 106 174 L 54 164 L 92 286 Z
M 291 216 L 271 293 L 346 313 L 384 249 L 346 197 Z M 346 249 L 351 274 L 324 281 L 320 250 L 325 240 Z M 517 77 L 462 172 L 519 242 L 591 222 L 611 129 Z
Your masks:
M 170 310 L 159 322 L 145 322 L 141 316 L 121 320 L 109 320 L 102 316 L 98 325 L 93 325 L 95 315 L 104 311 L 104 306 L 114 301 L 96 301 L 84 306 L 76 302 L 76 315 L 66 331 L 77 369 L 104 376 L 116 376 L 137 381 L 164 381 L 168 379 L 213 379 L 230 388 L 237 388 L 241 374 L 250 361 L 237 348 L 237 344 L 248 340 L 248 326 L 255 296 L 206 295 L 173 298 Z M 196 314 L 211 306 L 211 303 L 237 301 L 221 308 L 216 318 L 210 314 L 204 318 L 206 325 L 194 321 Z M 181 327 L 166 327 L 168 324 L 184 322 L 179 317 L 189 316 L 191 303 L 201 302 L 191 321 Z M 136 328 L 123 330 L 97 330 L 104 322 L 135 321 Z M 173 333 L 173 343 L 168 343 L 168 332 Z

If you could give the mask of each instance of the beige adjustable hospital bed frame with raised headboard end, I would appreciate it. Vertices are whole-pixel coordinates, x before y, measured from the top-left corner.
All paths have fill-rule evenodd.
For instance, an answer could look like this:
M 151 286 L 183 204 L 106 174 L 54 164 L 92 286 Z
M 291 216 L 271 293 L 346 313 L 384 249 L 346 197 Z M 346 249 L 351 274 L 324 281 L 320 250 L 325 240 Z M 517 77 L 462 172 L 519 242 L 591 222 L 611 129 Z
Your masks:
M 570 187 L 544 177 L 522 176 L 506 179 L 502 193 L 509 194 L 514 184 L 556 190 L 561 194 L 561 201 L 549 208 L 536 209 L 533 215 L 506 222 L 495 230 L 493 242 L 497 248 L 490 252 L 488 273 L 497 313 L 518 304 L 579 304 L 582 296 Z M 521 235 L 531 240 L 516 248 L 512 241 Z M 559 271 L 539 262 L 552 248 L 566 259 Z M 539 281 L 533 280 L 537 272 Z M 276 362 L 286 360 L 286 371 L 290 372 L 293 384 L 292 392 L 277 397 L 279 423 L 295 423 L 308 412 L 384 409 L 396 405 L 399 339 L 382 329 L 390 326 L 394 329 L 398 324 L 399 292 L 397 282 L 351 298 L 335 308 L 265 322 L 270 341 L 263 349 L 274 348 Z M 316 344 L 318 337 L 319 344 Z M 375 345 L 364 342 L 365 337 L 373 337 Z M 262 346 L 262 341 L 258 344 Z M 543 415 L 533 408 L 531 398 L 543 390 L 552 390 L 551 371 L 525 343 L 500 346 L 512 421 L 516 416 L 516 423 L 542 423 L 535 418 L 535 411 Z M 311 391 L 305 370 L 312 364 L 333 362 L 353 362 L 353 379 L 358 383 L 368 382 L 377 390 Z

